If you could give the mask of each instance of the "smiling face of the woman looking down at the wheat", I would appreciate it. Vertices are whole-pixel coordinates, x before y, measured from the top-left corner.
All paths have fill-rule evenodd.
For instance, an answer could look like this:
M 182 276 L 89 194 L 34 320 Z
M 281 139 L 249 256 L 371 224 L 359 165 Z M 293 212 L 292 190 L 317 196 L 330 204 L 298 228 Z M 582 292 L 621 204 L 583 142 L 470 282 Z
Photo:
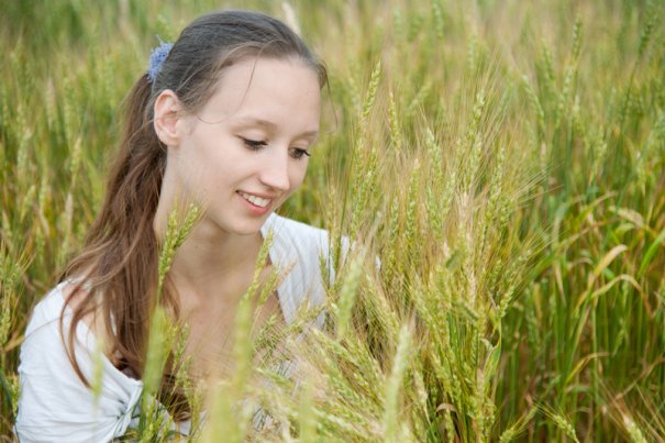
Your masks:
M 203 203 L 203 222 L 258 232 L 302 184 L 319 133 L 317 73 L 295 59 L 248 57 L 222 71 L 200 112 L 178 119 L 169 146 L 178 193 Z

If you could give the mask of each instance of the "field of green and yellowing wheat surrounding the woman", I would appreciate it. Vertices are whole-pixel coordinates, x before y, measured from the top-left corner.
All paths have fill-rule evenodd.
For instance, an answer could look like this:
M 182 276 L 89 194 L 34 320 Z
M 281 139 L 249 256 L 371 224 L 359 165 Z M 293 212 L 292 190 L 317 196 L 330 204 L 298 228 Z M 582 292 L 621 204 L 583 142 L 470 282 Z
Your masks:
M 241 311 L 235 373 L 210 398 L 179 380 L 192 439 L 665 441 L 665 7 L 641 0 L 0 0 L 0 435 L 157 36 L 241 5 L 328 66 L 280 213 L 354 247 L 334 242 L 334 328 L 251 337 Z M 130 439 L 168 439 L 151 405 Z

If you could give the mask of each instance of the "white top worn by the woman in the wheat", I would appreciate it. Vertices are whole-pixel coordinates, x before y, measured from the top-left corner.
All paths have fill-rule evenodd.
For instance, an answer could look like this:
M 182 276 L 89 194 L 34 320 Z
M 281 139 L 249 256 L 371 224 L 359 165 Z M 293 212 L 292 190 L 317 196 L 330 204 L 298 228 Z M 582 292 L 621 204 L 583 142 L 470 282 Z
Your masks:
M 320 263 L 323 256 L 330 264 L 328 233 L 277 214 L 266 220 L 262 235 L 265 237 L 270 230 L 273 266 L 288 272 L 277 294 L 285 320 L 290 323 L 306 298 L 311 306 L 324 300 Z M 332 266 L 328 267 L 332 278 Z M 97 351 L 95 336 L 84 322 L 76 329 L 76 357 L 89 380 L 95 379 L 95 359 L 99 367 L 101 358 L 101 391 L 97 398 L 74 372 L 64 347 L 71 314 L 68 307 L 63 318 L 65 342 L 59 329 L 66 284 L 60 283 L 35 306 L 21 346 L 15 423 L 21 442 L 107 442 L 137 425 L 143 383 L 118 370 Z M 318 319 L 321 322 L 322 317 Z

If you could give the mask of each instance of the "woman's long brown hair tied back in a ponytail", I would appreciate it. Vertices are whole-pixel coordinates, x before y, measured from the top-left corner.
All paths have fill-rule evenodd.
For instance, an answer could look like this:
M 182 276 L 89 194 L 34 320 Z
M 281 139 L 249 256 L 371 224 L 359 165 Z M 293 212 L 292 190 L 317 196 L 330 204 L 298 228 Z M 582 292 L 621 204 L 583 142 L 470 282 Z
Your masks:
M 159 244 L 153 221 L 166 166 L 166 146 L 152 124 L 155 99 L 170 89 L 188 112 L 196 112 L 213 95 L 223 68 L 247 56 L 295 57 L 318 73 L 322 87 L 326 82 L 323 65 L 284 23 L 257 12 L 221 11 L 187 26 L 154 80 L 144 74 L 128 98 L 103 206 L 82 251 L 62 276 L 76 281 L 71 294 L 80 297 L 71 307 L 66 347 L 86 385 L 74 341 L 78 322 L 89 313 L 101 315 L 111 362 L 135 378 L 143 376 L 148 320 L 157 299 Z M 177 315 L 174 292 L 165 286 L 160 300 Z

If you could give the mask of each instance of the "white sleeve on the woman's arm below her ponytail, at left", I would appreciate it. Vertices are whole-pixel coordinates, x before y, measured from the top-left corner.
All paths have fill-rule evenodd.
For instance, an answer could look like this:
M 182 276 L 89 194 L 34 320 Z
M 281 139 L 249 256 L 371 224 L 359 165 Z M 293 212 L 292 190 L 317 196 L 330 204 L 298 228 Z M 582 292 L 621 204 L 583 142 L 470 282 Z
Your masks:
M 63 285 L 34 309 L 21 346 L 15 432 L 20 442 L 106 442 L 123 435 L 137 412 L 143 385 L 118 370 L 103 355 L 101 392 L 96 398 L 67 357 L 59 329 Z M 68 309 L 68 308 L 67 308 Z M 71 311 L 69 311 L 69 314 Z M 65 343 L 69 321 L 63 321 Z M 79 322 L 77 362 L 88 380 L 95 373 L 95 337 Z

